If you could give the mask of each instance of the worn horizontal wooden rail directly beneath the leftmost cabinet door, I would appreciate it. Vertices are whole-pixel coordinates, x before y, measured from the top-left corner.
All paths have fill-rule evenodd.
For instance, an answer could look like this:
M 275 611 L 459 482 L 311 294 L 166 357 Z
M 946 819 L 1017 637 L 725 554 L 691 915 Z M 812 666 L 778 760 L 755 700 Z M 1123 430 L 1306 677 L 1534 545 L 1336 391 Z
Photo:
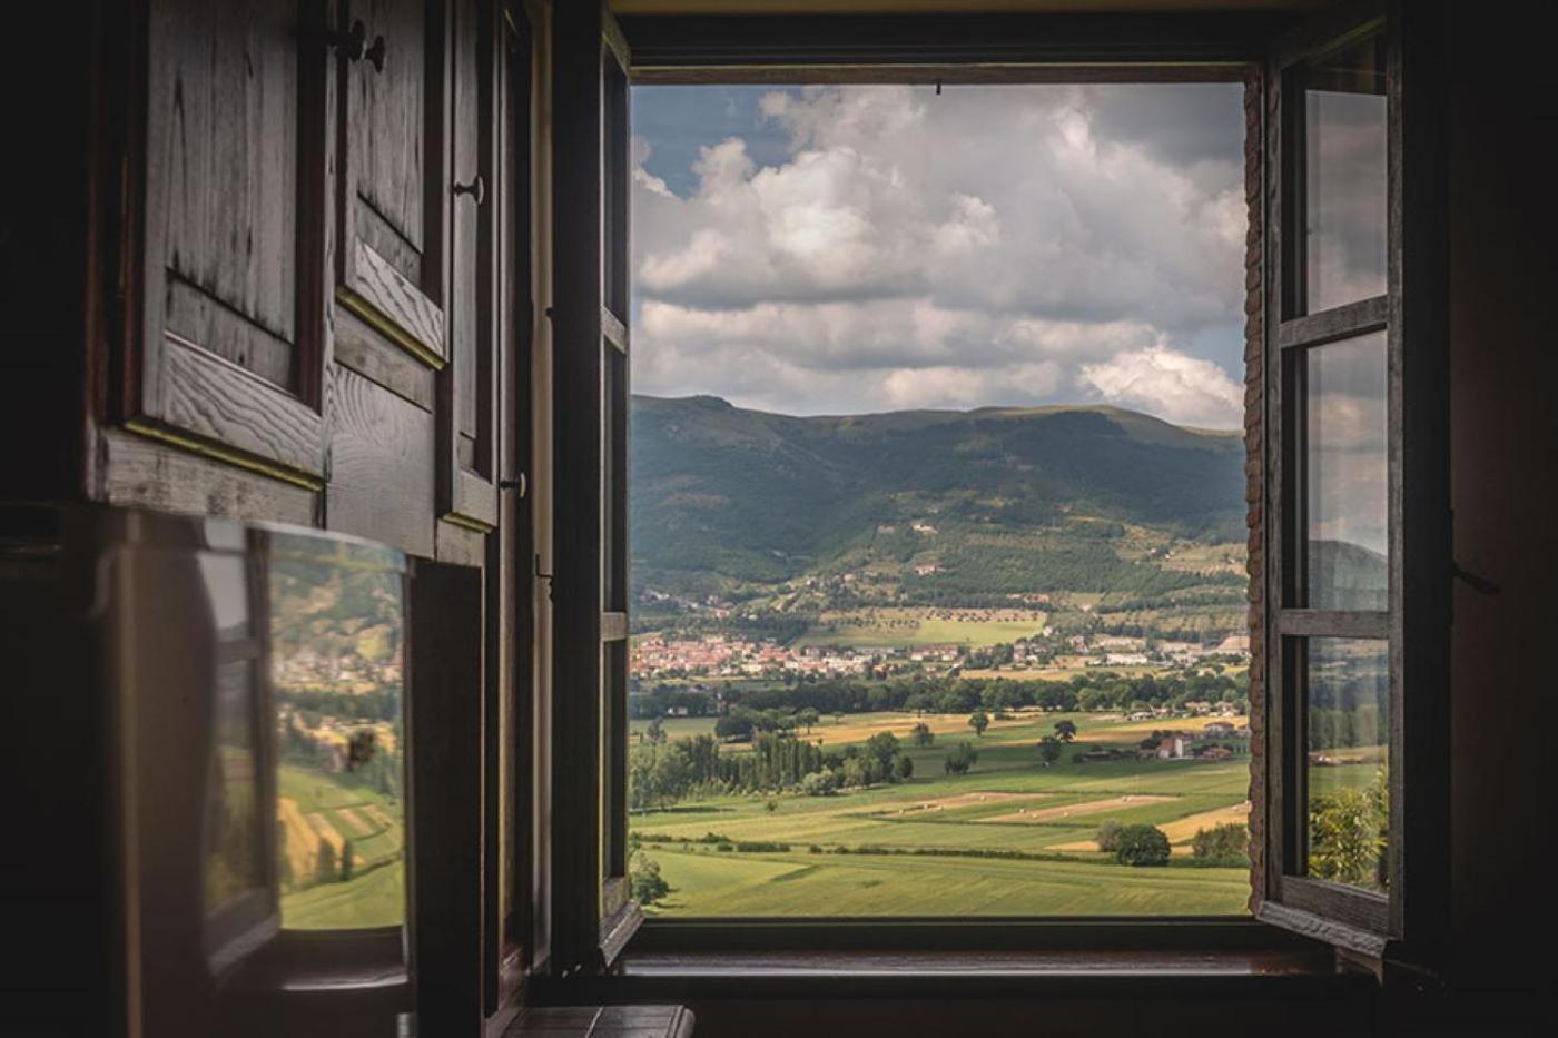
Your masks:
M 103 496 L 111 505 L 299 527 L 318 522 L 319 494 L 293 483 L 245 472 L 117 429 L 103 430 Z

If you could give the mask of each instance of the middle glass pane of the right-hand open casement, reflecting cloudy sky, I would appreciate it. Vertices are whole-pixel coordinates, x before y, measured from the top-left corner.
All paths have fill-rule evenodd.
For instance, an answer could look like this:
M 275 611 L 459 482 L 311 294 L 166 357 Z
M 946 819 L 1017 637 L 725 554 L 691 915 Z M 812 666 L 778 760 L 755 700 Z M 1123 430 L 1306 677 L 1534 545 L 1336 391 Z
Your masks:
M 1388 608 L 1385 334 L 1307 351 L 1309 608 Z

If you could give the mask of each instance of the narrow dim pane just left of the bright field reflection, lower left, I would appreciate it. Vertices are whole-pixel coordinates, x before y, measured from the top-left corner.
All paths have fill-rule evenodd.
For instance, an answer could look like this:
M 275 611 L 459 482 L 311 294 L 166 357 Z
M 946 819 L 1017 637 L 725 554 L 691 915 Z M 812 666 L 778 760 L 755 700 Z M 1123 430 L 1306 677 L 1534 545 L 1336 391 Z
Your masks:
M 217 672 L 212 734 L 204 826 L 207 915 L 265 882 L 251 661 Z

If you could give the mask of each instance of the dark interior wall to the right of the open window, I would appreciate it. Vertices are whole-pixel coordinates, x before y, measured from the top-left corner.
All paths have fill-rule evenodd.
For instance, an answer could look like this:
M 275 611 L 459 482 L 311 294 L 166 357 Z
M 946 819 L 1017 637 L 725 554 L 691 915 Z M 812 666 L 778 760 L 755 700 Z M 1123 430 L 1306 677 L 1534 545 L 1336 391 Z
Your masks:
M 1450 12 L 1452 971 L 1549 983 L 1553 396 L 1550 36 L 1517 3 Z M 1522 17 L 1527 16 L 1527 17 Z M 1525 26 L 1522 28 L 1522 23 Z M 1538 937 L 1541 935 L 1541 937 Z M 1497 1007 L 1500 999 L 1488 999 Z

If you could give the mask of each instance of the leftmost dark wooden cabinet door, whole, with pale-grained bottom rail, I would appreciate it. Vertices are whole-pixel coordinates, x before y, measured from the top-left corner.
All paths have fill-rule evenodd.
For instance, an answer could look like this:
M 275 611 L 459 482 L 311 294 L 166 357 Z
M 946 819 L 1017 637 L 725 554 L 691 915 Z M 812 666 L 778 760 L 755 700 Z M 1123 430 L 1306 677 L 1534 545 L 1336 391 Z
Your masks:
M 296 0 L 151 3 L 120 399 L 134 432 L 310 489 L 324 474 L 316 17 Z

